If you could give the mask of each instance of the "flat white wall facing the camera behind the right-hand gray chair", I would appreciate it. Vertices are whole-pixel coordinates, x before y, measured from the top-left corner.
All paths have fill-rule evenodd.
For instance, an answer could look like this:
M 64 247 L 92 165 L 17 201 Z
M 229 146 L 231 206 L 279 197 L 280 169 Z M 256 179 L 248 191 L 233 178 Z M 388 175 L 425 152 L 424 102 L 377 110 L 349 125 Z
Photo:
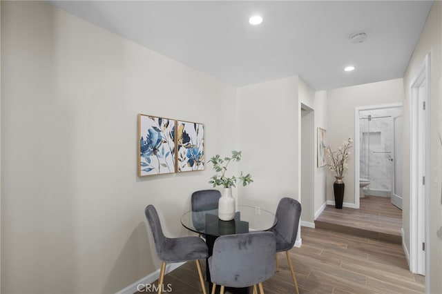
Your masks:
M 254 180 L 242 204 L 275 211 L 282 197 L 300 199 L 298 112 L 298 77 L 238 88 L 239 168 Z

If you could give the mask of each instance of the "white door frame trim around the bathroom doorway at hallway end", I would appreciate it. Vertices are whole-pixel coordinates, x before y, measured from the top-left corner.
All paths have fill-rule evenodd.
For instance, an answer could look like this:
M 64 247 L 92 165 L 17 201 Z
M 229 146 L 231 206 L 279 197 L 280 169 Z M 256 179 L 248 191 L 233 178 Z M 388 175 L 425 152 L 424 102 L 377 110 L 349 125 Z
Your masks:
M 375 109 L 385 109 L 385 108 L 397 108 L 403 107 L 402 103 L 391 103 L 391 104 L 378 104 L 372 106 L 358 106 L 354 108 L 354 208 L 359 209 L 360 197 L 359 195 L 359 177 L 361 177 L 361 173 L 359 168 L 361 165 L 359 161 L 361 160 L 361 154 L 359 152 L 361 148 L 361 144 L 359 141 L 361 136 L 359 135 L 359 112 L 361 110 L 375 110 Z

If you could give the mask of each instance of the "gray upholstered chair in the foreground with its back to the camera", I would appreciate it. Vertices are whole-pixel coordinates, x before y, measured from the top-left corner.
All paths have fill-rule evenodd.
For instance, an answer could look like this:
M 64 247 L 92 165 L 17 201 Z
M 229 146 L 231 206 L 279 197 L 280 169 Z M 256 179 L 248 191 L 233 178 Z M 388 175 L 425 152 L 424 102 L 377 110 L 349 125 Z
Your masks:
M 271 232 L 256 232 L 218 237 L 213 244 L 213 255 L 209 257 L 212 294 L 216 285 L 245 288 L 256 284 L 263 294 L 262 282 L 275 273 L 275 235 Z

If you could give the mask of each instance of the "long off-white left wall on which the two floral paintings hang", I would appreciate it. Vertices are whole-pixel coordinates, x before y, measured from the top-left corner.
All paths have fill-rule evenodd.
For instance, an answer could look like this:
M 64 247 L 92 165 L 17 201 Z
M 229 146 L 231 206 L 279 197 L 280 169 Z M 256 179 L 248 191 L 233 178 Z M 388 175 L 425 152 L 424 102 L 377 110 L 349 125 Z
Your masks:
M 137 114 L 204 124 L 208 158 L 237 143 L 231 105 L 218 79 L 43 1 L 1 1 L 1 292 L 115 293 L 157 270 L 144 208 L 187 235 L 180 215 L 213 172 L 137 177 Z M 266 139 L 251 140 L 260 164 Z

